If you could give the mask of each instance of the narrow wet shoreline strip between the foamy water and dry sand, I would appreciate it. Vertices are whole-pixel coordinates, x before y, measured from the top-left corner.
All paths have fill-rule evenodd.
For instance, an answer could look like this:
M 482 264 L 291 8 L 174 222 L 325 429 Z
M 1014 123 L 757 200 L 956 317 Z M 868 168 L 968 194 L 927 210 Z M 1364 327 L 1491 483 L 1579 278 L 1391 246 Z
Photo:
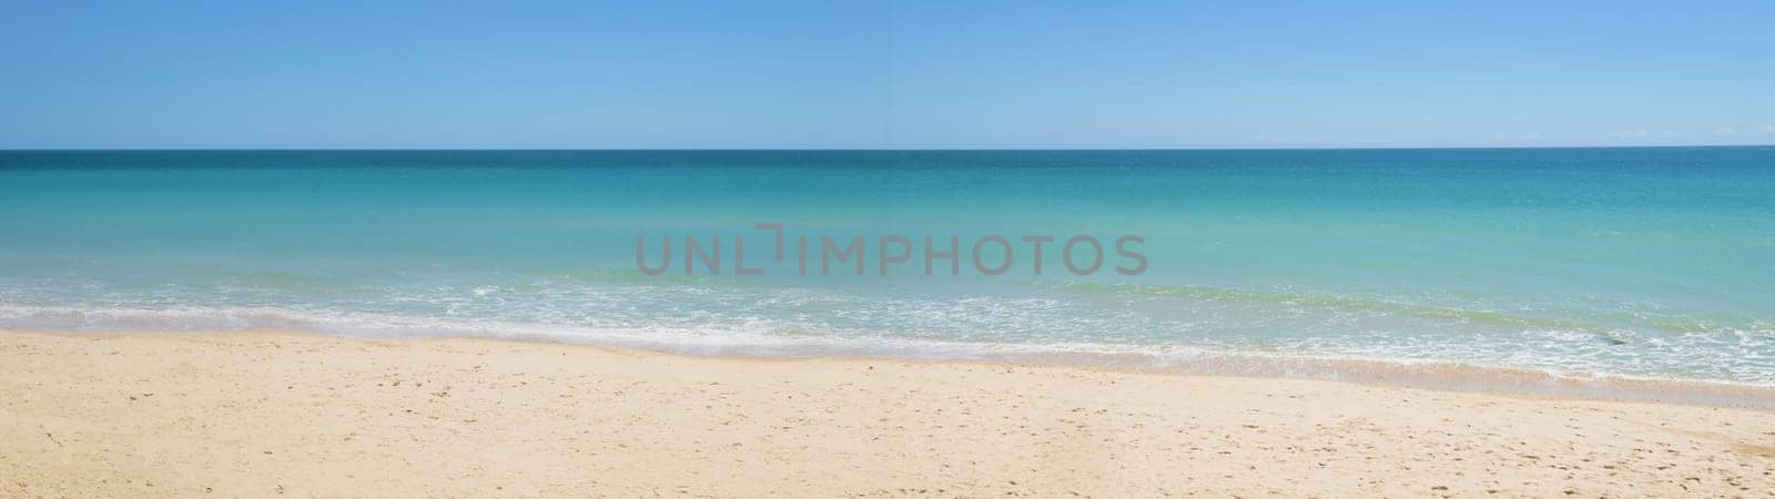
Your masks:
M 1557 400 L 1681 403 L 1704 407 L 1775 410 L 1775 385 L 1752 382 L 1724 382 L 1684 376 L 1644 376 L 1622 373 L 1592 373 L 1583 369 L 1548 369 L 1509 364 L 1477 364 L 1450 359 L 1386 359 L 1349 355 L 1308 355 L 1287 352 L 1209 350 L 1154 345 L 1010 345 L 1010 343 L 882 343 L 861 339 L 765 341 L 740 336 L 708 341 L 710 334 L 660 332 L 646 337 L 635 332 L 600 334 L 579 330 L 538 329 L 522 323 L 492 323 L 474 329 L 440 327 L 435 330 L 390 329 L 382 332 L 343 332 L 325 329 L 5 329 L 0 332 L 60 334 L 60 336 L 114 336 L 114 334 L 302 334 L 353 337 L 371 341 L 426 341 L 426 339 L 486 339 L 543 345 L 635 350 L 660 355 L 797 360 L 797 359 L 852 359 L 852 360 L 912 360 L 962 362 L 1008 366 L 1056 366 L 1079 369 L 1106 369 L 1122 373 L 1173 373 L 1202 376 L 1289 378 L 1379 387 L 1406 387 L 1454 392 L 1486 392 L 1509 396 L 1535 396 Z

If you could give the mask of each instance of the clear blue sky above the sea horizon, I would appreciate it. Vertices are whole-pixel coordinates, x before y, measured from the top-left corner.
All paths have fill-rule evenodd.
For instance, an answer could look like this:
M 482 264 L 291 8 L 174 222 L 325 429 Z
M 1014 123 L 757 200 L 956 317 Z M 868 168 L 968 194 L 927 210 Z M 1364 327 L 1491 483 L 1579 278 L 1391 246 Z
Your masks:
M 0 0 L 0 147 L 1656 144 L 1775 2 Z

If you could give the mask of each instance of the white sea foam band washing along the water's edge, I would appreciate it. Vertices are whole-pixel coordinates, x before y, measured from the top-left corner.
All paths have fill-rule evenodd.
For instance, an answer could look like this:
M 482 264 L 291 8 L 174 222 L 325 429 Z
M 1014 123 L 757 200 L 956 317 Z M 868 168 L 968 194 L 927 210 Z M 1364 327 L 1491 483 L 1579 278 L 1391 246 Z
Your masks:
M 1608 400 L 1775 408 L 1775 385 L 1525 369 L 1457 360 L 1374 355 L 1241 352 L 1182 345 L 1090 341 L 948 341 L 905 336 L 815 334 L 756 320 L 744 327 L 573 327 L 277 307 L 34 307 L 0 305 L 0 329 L 85 332 L 300 330 L 351 337 L 495 337 L 646 348 L 692 355 L 815 357 L 868 355 L 932 360 L 1010 360 L 1161 369 L 1205 375 L 1283 376 L 1406 387 L 1557 394 Z M 1548 332 L 1548 337 L 1562 337 Z M 1326 348 L 1337 341 L 1308 345 Z M 1415 345 L 1415 355 L 1436 352 Z M 1335 350 L 1335 348 L 1333 348 Z M 1443 352 L 1448 353 L 1448 352 Z M 1432 353 L 1434 355 L 1434 353 Z

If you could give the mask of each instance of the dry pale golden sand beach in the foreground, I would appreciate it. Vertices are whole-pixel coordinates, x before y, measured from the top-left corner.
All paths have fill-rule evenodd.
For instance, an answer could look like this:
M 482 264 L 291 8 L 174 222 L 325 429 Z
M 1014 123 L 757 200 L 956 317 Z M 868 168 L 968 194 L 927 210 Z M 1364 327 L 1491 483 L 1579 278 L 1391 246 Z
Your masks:
M 0 332 L 0 495 L 1768 495 L 1775 414 L 488 339 Z

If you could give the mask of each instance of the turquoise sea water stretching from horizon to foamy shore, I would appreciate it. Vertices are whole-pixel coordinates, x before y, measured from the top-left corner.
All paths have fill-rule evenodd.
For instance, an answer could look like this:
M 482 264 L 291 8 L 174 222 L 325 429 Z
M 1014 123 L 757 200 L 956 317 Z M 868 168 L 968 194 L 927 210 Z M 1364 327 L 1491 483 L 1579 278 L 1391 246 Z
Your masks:
M 797 275 L 756 222 L 864 236 L 870 275 Z M 721 236 L 722 275 L 682 245 L 644 275 L 637 234 L 650 265 Z M 914 243 L 889 275 L 882 234 Z M 962 275 L 923 275 L 951 234 Z M 983 234 L 1005 275 L 971 268 Z M 1079 277 L 1056 242 L 1033 275 L 1024 234 L 1109 254 Z M 1122 234 L 1141 275 L 1109 270 Z M 1775 387 L 1775 147 L 5 151 L 0 329 Z

